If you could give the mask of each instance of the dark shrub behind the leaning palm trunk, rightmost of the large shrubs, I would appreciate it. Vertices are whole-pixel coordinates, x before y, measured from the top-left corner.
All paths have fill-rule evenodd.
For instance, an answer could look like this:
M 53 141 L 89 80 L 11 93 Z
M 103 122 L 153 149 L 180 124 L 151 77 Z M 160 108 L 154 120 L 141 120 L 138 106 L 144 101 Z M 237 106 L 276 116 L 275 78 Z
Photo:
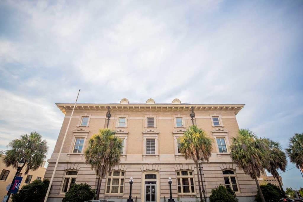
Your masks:
M 279 202 L 282 198 L 282 193 L 278 186 L 268 183 L 266 185 L 261 185 L 260 187 L 266 202 Z M 259 192 L 256 196 L 256 201 L 262 201 Z

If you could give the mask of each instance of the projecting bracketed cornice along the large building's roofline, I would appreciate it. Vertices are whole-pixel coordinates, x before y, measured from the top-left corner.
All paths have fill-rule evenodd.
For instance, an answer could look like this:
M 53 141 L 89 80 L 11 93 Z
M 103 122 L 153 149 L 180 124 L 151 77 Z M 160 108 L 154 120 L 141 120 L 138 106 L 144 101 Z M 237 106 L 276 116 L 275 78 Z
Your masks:
M 66 114 L 66 111 L 72 111 L 74 104 L 56 103 L 57 107 Z M 235 114 L 245 106 L 245 104 L 76 104 L 75 111 L 104 111 L 110 108 L 110 111 L 233 111 Z

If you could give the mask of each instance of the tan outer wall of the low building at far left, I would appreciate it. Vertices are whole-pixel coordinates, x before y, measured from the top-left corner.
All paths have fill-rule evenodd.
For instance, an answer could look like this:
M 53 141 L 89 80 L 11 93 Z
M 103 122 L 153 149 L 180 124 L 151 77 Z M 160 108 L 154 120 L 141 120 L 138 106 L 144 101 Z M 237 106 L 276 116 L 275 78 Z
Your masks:
M 2 155 L 1 159 L 0 159 L 0 172 L 2 172 L 2 170 L 8 170 L 10 171 L 9 174 L 8 174 L 8 177 L 6 180 L 0 180 L 0 198 L 3 199 L 3 197 L 7 194 L 7 191 L 6 191 L 6 186 L 8 184 L 11 184 L 12 183 L 12 180 L 14 179 L 15 177 L 15 174 L 17 172 L 17 169 L 13 168 L 12 166 L 10 167 L 6 167 L 5 164 L 3 163 L 3 157 L 4 155 Z M 44 167 L 44 164 L 45 162 L 42 164 L 42 167 L 39 167 L 38 170 L 35 170 L 35 171 L 29 171 L 27 175 L 32 175 L 32 180 L 36 180 L 37 177 L 41 177 L 41 180 L 44 179 L 44 175 L 45 175 L 45 171 L 46 171 L 46 168 Z M 22 178 L 22 182 L 21 182 L 21 185 L 20 185 L 20 188 L 25 184 L 25 179 L 27 177 L 27 175 L 25 175 L 25 167 L 22 169 L 21 171 L 22 175 L 21 177 Z

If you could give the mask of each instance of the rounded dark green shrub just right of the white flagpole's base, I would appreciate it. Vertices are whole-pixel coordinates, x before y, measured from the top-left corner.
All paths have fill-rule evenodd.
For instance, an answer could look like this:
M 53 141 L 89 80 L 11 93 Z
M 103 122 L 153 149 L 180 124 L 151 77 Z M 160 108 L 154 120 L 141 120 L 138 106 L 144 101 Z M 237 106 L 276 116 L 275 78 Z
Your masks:
M 94 196 L 95 190 L 92 190 L 88 184 L 74 184 L 65 194 L 62 202 L 83 202 L 93 200 Z

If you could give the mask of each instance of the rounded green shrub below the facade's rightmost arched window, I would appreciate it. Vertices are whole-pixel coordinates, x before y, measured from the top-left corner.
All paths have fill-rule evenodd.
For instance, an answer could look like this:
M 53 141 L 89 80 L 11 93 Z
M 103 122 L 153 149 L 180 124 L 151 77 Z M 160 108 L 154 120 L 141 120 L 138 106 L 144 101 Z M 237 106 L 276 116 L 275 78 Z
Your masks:
M 235 192 L 231 189 L 220 185 L 216 189 L 211 190 L 209 202 L 238 202 Z

